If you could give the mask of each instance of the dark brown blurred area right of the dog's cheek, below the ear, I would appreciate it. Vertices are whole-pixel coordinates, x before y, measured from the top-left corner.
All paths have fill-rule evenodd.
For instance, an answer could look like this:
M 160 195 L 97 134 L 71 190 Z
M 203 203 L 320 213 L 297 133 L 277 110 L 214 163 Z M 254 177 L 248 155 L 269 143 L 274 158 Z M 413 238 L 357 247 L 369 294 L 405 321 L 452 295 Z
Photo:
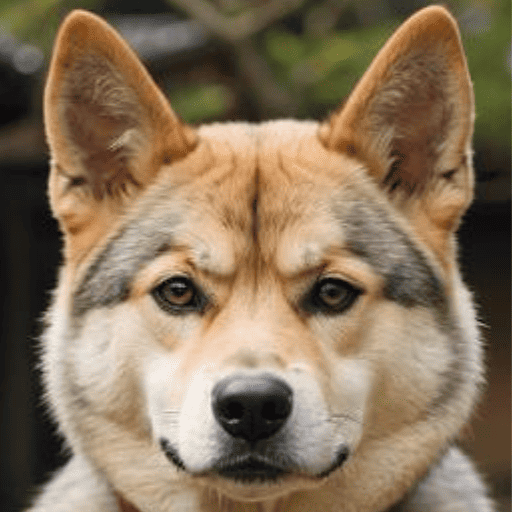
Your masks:
M 487 387 L 463 444 L 505 512 L 511 509 L 509 205 L 477 205 L 464 222 L 460 241 L 464 278 L 483 324 L 487 363 Z

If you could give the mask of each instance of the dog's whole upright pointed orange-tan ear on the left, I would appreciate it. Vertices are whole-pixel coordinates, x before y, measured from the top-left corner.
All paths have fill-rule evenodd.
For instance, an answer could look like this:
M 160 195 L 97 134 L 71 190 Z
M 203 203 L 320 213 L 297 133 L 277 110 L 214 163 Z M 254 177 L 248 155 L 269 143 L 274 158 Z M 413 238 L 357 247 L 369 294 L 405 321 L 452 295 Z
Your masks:
M 67 239 L 89 231 L 89 243 L 196 142 L 121 37 L 80 10 L 57 35 L 44 115 L 54 214 Z

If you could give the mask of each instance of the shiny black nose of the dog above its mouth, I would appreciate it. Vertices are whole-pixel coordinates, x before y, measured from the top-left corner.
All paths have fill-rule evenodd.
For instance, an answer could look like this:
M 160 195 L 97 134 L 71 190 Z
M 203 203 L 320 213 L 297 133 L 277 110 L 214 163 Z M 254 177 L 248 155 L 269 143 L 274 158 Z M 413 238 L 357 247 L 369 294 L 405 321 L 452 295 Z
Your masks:
M 275 434 L 292 410 L 293 392 L 269 375 L 228 377 L 212 392 L 213 413 L 233 437 L 254 442 Z

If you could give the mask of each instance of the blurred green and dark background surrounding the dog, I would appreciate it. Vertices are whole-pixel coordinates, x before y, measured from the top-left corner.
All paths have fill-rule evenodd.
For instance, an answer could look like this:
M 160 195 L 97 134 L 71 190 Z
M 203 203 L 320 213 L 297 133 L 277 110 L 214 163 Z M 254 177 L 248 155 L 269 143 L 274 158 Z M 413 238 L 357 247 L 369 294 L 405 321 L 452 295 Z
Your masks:
M 511 13 L 449 0 L 476 94 L 476 201 L 460 259 L 479 304 L 488 387 L 462 443 L 510 510 Z M 37 339 L 59 234 L 46 204 L 41 95 L 60 20 L 82 7 L 128 40 L 190 123 L 323 119 L 421 0 L 0 0 L 0 510 L 66 455 L 41 401 Z

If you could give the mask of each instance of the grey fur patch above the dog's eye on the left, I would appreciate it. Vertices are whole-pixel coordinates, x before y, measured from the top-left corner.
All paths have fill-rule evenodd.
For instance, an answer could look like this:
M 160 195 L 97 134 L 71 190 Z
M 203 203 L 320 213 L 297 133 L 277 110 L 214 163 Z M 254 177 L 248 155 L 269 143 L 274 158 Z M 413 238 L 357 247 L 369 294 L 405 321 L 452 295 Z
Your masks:
M 140 268 L 173 245 L 181 223 L 177 212 L 154 212 L 128 224 L 109 241 L 89 267 L 73 296 L 75 319 L 87 311 L 126 300 L 130 283 Z

